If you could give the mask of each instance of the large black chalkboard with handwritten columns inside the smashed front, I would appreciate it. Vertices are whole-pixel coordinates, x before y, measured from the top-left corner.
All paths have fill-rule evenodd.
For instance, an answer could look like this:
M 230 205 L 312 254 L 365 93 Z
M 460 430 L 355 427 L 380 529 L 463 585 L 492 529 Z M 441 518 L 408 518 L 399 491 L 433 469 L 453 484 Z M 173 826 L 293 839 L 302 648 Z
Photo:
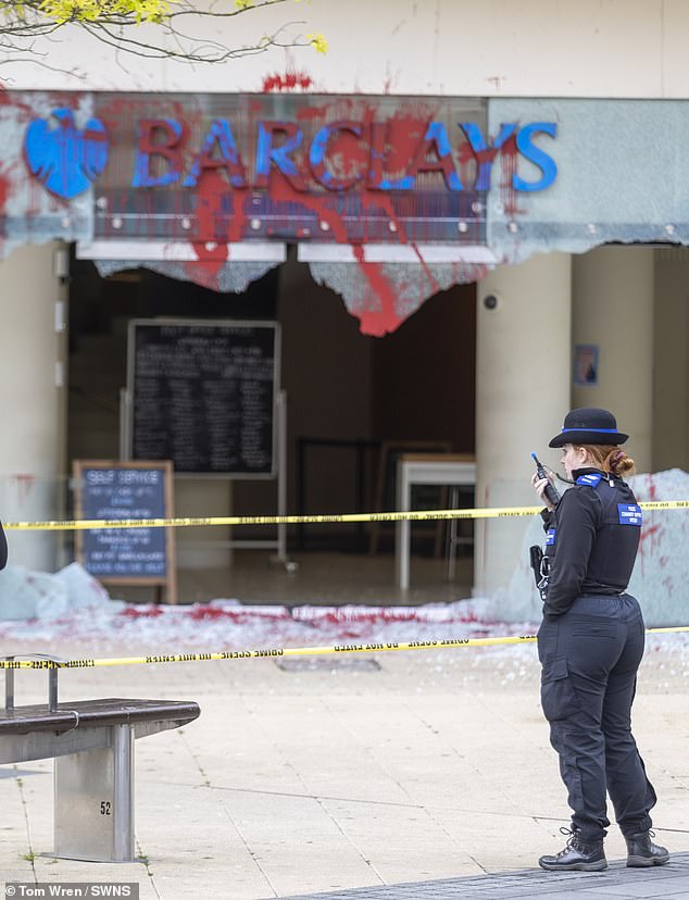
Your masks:
M 133 320 L 129 457 L 274 477 L 278 363 L 275 322 Z

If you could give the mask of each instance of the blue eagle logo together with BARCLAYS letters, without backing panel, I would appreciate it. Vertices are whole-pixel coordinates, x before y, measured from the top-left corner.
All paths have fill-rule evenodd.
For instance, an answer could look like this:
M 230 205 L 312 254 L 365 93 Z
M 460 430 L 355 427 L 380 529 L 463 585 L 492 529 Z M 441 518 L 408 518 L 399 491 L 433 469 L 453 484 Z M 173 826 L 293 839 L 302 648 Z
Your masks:
M 103 173 L 111 137 L 99 118 L 77 127 L 70 109 L 57 109 L 50 120 L 29 123 L 24 151 L 32 175 L 57 197 L 71 199 L 86 191 Z M 414 192 L 425 175 L 437 175 L 436 187 L 447 191 L 488 191 L 499 153 L 512 153 L 535 167 L 535 178 L 523 177 L 517 165 L 511 189 L 536 192 L 555 180 L 558 166 L 543 139 L 556 137 L 554 122 L 504 123 L 493 138 L 476 122 L 448 126 L 427 121 L 415 140 L 409 133 L 390 135 L 389 123 L 337 120 L 309 135 L 298 122 L 259 120 L 254 139 L 241 147 L 228 118 L 210 121 L 195 147 L 185 122 L 176 118 L 140 118 L 129 186 L 133 188 L 198 188 L 208 172 L 223 174 L 236 190 L 270 190 L 274 172 L 280 173 L 299 193 L 326 190 L 347 192 Z M 401 140 L 399 139 L 401 138 Z M 117 135 L 113 135 L 113 140 Z M 401 146 L 403 145 L 403 147 Z M 458 161 L 473 159 L 468 183 L 458 171 Z M 392 170 L 396 170 L 392 174 Z M 428 178 L 426 177 L 426 180 Z

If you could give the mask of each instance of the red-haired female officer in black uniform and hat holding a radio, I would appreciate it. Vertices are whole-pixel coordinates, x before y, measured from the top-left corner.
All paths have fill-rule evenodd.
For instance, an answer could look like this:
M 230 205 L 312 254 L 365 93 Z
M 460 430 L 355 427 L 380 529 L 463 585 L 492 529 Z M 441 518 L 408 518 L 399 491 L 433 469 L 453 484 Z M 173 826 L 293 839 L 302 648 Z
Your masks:
M 606 868 L 610 825 L 605 790 L 627 842 L 627 865 L 663 865 L 667 850 L 651 841 L 655 791 L 631 735 L 631 702 L 643 655 L 644 626 L 625 592 L 639 546 L 641 510 L 622 479 L 634 460 L 612 413 L 572 410 L 550 447 L 563 451 L 573 487 L 553 507 L 547 479 L 533 484 L 547 509 L 549 575 L 538 632 L 541 703 L 573 810 L 569 839 L 542 868 Z

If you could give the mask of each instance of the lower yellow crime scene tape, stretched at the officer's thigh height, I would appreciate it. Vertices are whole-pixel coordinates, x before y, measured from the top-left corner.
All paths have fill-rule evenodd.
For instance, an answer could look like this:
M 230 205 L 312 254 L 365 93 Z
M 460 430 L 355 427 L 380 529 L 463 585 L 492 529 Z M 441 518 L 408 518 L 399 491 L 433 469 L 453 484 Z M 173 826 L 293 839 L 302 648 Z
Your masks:
M 667 628 L 647 628 L 647 635 L 689 632 L 689 625 Z M 524 643 L 536 640 L 536 635 L 516 635 L 496 638 L 446 638 L 443 640 L 412 640 L 386 643 L 342 643 L 335 647 L 279 647 L 266 650 L 223 650 L 220 653 L 162 653 L 150 657 L 122 657 L 104 660 L 0 660 L 1 668 L 95 668 L 98 665 L 152 665 L 170 662 L 210 662 L 211 660 L 275 659 L 279 657 L 322 657 L 328 653 L 387 653 L 393 650 L 441 650 L 450 647 L 494 647 L 503 643 Z

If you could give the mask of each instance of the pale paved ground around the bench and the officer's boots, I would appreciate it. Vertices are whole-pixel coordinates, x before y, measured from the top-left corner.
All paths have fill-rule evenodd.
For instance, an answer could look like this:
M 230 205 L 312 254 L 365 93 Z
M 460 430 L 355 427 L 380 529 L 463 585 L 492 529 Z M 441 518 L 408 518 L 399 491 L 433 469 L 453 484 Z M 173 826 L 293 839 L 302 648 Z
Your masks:
M 0 884 L 134 880 L 141 898 L 173 900 L 600 900 L 682 896 L 677 885 L 689 896 L 689 660 L 663 641 L 647 652 L 635 708 L 657 840 L 685 854 L 663 870 L 536 867 L 561 849 L 567 809 L 535 647 L 523 645 L 381 654 L 379 667 L 324 658 L 311 670 L 237 660 L 63 672 L 61 701 L 193 699 L 201 717 L 137 742 L 141 864 L 38 855 L 52 847 L 52 763 L 0 766 Z M 17 673 L 16 702 L 43 701 L 45 683 Z M 624 859 L 614 826 L 606 853 Z

